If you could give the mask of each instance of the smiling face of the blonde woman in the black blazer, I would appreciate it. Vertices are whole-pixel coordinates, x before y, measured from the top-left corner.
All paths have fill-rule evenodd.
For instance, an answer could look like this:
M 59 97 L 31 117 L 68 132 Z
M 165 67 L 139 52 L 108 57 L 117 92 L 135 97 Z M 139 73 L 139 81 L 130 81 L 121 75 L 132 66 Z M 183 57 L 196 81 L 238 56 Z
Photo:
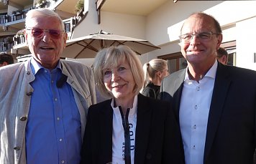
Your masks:
M 133 99 L 134 77 L 129 63 L 119 62 L 117 67 L 103 69 L 104 85 L 116 99 Z

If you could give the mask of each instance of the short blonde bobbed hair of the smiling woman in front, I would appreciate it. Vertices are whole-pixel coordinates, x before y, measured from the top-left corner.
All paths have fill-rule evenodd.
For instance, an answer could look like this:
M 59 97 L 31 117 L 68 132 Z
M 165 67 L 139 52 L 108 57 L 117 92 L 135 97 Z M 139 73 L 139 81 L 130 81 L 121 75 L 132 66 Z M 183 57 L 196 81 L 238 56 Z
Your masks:
M 140 62 L 140 59 L 137 57 L 137 54 L 132 51 L 132 49 L 124 45 L 112 46 L 101 49 L 101 51 L 96 54 L 93 63 L 93 73 L 96 86 L 98 87 L 99 92 L 101 92 L 104 97 L 113 97 L 113 95 L 111 94 L 111 92 L 106 90 L 106 87 L 104 85 L 104 74 L 102 70 L 106 68 L 117 67 L 120 62 L 125 61 L 129 63 L 132 75 L 134 77 L 135 95 L 137 95 L 142 89 L 144 76 L 142 64 Z

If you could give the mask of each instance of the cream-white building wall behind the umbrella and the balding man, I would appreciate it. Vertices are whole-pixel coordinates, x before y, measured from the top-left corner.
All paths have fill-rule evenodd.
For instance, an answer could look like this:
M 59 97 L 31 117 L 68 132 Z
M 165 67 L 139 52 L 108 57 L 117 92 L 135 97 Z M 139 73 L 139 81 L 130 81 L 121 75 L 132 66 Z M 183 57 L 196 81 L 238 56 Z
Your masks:
M 103 29 L 113 34 L 147 39 L 161 49 L 140 56 L 144 64 L 157 56 L 179 52 L 178 35 L 183 20 L 193 12 L 204 11 L 221 24 L 223 42 L 237 41 L 237 66 L 255 69 L 255 64 L 250 64 L 252 54 L 256 52 L 255 41 L 248 43 L 248 38 L 256 37 L 256 1 L 167 1 L 146 17 L 101 11 L 101 24 L 98 24 L 95 2 L 88 3 L 86 20 L 76 27 L 73 38 Z

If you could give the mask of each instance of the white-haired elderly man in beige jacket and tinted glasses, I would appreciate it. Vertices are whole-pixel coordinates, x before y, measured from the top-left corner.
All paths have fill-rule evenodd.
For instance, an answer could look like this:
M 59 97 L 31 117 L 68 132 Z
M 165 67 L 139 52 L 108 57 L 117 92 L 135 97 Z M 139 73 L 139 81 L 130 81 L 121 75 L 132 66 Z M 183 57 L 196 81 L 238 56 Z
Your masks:
M 24 35 L 31 59 L 0 69 L 0 163 L 79 163 L 93 72 L 60 59 L 67 34 L 55 12 L 30 10 Z

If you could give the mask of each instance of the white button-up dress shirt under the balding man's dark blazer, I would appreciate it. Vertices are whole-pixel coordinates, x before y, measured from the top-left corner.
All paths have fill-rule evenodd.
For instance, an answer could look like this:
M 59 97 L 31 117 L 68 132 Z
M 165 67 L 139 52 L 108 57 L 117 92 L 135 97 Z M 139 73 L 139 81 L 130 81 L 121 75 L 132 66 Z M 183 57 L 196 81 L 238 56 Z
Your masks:
M 217 65 L 215 61 L 199 82 L 189 79 L 188 68 L 186 70 L 179 112 L 186 164 L 204 163 L 206 130 Z

